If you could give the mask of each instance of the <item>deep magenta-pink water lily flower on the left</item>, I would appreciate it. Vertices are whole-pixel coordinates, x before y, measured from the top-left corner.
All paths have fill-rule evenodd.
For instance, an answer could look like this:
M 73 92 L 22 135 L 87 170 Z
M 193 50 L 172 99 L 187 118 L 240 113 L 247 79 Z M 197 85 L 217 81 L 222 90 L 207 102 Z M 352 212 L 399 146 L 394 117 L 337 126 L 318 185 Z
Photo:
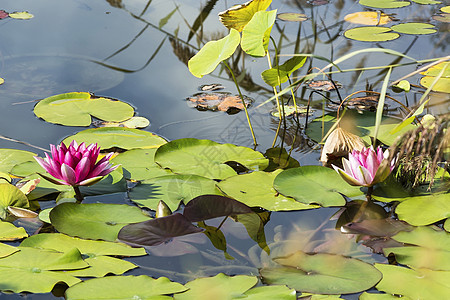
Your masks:
M 105 155 L 97 161 L 100 147 L 97 144 L 90 144 L 86 147 L 84 143 L 80 145 L 73 141 L 69 147 L 64 143 L 59 146 L 50 145 L 50 157 L 45 153 L 46 158 L 35 156 L 36 161 L 53 177 L 42 175 L 45 179 L 56 183 L 71 186 L 91 185 L 108 175 L 119 166 L 112 166 L 109 159 L 113 153 Z

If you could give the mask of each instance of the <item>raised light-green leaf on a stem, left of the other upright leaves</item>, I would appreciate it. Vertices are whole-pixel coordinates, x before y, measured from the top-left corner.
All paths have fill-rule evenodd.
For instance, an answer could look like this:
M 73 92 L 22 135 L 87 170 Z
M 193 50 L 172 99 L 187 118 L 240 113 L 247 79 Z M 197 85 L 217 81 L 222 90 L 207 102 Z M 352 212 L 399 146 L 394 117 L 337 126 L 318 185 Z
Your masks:
M 226 37 L 218 41 L 209 41 L 189 59 L 189 71 L 199 78 L 211 73 L 220 62 L 228 59 L 234 53 L 240 40 L 239 32 L 232 28 Z

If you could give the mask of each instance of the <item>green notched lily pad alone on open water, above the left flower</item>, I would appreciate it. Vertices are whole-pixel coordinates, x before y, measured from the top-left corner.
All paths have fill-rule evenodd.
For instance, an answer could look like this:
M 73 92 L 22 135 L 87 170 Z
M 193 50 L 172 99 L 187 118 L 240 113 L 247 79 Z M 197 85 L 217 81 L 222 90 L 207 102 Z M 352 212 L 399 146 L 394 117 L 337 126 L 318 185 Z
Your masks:
M 131 105 L 90 93 L 65 93 L 40 100 L 34 107 L 37 117 L 65 126 L 89 126 L 92 117 L 103 121 L 121 122 L 134 115 Z

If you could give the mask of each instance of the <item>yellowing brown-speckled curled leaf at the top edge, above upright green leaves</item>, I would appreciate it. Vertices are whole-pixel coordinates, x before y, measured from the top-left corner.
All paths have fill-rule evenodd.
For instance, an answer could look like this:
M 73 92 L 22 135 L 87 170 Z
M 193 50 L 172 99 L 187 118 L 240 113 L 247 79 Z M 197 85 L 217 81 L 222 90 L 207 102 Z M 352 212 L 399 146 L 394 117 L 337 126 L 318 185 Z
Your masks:
M 234 28 L 241 32 L 253 15 L 258 11 L 266 10 L 270 3 L 272 0 L 252 0 L 245 4 L 235 5 L 219 13 L 220 22 L 228 29 Z

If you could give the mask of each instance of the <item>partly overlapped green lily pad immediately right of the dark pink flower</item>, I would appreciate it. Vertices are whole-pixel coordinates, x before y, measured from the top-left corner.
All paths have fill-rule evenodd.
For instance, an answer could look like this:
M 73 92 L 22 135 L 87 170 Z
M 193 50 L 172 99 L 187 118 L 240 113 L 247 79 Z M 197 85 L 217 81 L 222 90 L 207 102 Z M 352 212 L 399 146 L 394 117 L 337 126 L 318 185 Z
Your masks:
M 168 175 L 170 171 L 155 163 L 156 149 L 133 149 L 119 153 L 111 163 L 122 165 L 124 177 L 132 180 L 144 180 Z

